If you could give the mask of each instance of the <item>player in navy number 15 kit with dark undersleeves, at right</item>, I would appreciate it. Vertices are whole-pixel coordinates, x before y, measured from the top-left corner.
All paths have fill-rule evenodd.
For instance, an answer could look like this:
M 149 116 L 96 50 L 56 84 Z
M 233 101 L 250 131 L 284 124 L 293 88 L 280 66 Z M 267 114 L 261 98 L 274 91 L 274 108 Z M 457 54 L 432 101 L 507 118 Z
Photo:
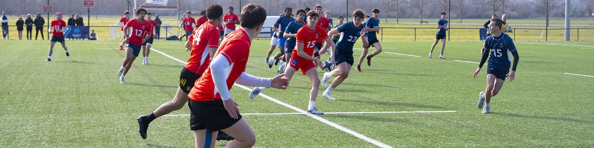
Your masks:
M 485 46 L 483 47 L 485 54 L 482 54 L 481 63 L 472 76 L 472 78 L 476 78 L 476 75 L 481 72 L 481 67 L 485 64 L 486 59 L 491 55 L 486 69 L 486 89 L 484 92 L 479 93 L 478 107 L 482 108 L 484 103 L 486 104 L 482 111 L 483 114 L 489 113 L 489 109 L 491 109 L 489 105 L 491 97 L 499 93 L 503 82 L 505 82 L 505 77 L 509 77 L 510 82 L 514 81 L 516 78 L 516 66 L 520 59 L 513 39 L 507 34 L 501 33 L 502 23 L 500 19 L 491 21 L 489 29 L 493 34 L 486 37 Z M 491 53 L 487 54 L 489 50 L 491 50 Z M 514 64 L 511 67 L 511 71 L 510 54 L 514 57 Z

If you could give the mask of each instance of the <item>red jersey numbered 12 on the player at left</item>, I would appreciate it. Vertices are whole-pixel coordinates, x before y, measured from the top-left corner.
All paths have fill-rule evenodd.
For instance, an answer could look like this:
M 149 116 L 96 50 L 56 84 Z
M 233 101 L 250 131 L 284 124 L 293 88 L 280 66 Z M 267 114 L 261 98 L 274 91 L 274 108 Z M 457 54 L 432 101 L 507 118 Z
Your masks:
M 128 21 L 126 27 L 132 29 L 130 36 L 128 37 L 128 42 L 134 44 L 135 46 L 142 46 L 144 36 L 146 36 L 147 34 L 152 34 L 152 25 L 150 24 L 150 22 L 139 22 L 138 18 L 134 18 L 133 20 Z

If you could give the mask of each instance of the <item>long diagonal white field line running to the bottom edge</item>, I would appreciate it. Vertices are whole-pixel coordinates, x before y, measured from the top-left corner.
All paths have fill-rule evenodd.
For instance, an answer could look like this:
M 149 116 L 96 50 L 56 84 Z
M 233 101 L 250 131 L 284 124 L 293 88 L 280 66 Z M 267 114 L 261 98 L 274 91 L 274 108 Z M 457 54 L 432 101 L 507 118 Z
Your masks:
M 159 52 L 159 50 L 156 50 L 156 49 L 153 49 L 153 48 L 151 48 L 151 50 L 153 50 L 153 51 L 155 51 L 157 53 L 163 54 L 164 56 L 169 57 L 169 58 L 171 58 L 173 60 L 177 60 L 178 62 L 185 63 L 184 61 L 179 60 L 179 59 L 175 59 L 175 57 L 169 56 L 168 54 L 165 54 L 163 52 Z M 249 88 L 247 88 L 245 86 L 238 85 L 238 84 L 233 84 L 233 85 L 239 86 L 240 88 L 243 88 L 243 89 L 245 89 L 247 91 L 251 91 L 251 89 L 249 89 Z M 264 95 L 263 93 L 260 93 L 259 95 L 260 96 L 263 96 L 264 98 L 266 98 L 266 99 L 268 99 L 270 101 L 276 102 L 277 104 L 280 104 L 280 105 L 283 105 L 285 107 L 291 108 L 291 109 L 293 109 L 293 110 L 295 110 L 297 112 L 304 113 L 304 114 L 306 113 L 304 110 L 301 110 L 301 109 L 299 109 L 297 107 L 293 107 L 292 105 L 286 104 L 285 102 L 279 101 L 277 99 L 271 98 L 270 96 Z M 328 120 L 326 120 L 326 119 L 324 119 L 322 117 L 319 117 L 317 115 L 313 115 L 313 114 L 306 114 L 306 115 L 308 115 L 309 117 L 312 117 L 312 118 L 314 118 L 314 119 L 316 119 L 318 121 L 321 121 L 323 123 L 326 123 L 326 124 L 328 124 L 328 125 L 330 125 L 330 126 L 332 126 L 334 128 L 337 128 L 339 130 L 345 131 L 346 133 L 352 134 L 353 136 L 358 137 L 359 139 L 362 139 L 362 140 L 368 141 L 369 143 L 375 144 L 376 146 L 384 147 L 384 148 L 386 148 L 386 147 L 390 147 L 391 148 L 391 146 L 388 146 L 387 144 L 381 143 L 380 141 L 371 139 L 371 138 L 369 138 L 367 136 L 364 136 L 363 134 L 359 134 L 359 133 L 357 133 L 355 131 L 349 130 L 348 128 L 339 126 L 338 124 L 333 123 L 333 122 L 330 122 L 330 121 L 328 121 Z

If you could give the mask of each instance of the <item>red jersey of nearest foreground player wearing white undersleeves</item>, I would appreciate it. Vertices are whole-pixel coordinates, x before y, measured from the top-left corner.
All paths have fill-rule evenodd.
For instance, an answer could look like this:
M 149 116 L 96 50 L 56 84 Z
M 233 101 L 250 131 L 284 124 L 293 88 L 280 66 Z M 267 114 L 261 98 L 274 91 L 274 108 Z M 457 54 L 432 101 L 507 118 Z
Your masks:
M 248 63 L 249 46 L 248 33 L 242 28 L 230 33 L 225 41 L 221 43 L 216 56 L 224 56 L 229 61 L 230 66 L 225 69 L 227 78 L 227 87 L 230 90 L 233 83 L 239 78 L 241 73 L 245 72 L 245 65 Z M 215 57 L 216 57 L 215 56 Z M 221 99 L 219 91 L 214 85 L 210 66 L 204 71 L 203 75 L 196 81 L 194 88 L 189 91 L 188 98 L 194 101 L 214 101 Z

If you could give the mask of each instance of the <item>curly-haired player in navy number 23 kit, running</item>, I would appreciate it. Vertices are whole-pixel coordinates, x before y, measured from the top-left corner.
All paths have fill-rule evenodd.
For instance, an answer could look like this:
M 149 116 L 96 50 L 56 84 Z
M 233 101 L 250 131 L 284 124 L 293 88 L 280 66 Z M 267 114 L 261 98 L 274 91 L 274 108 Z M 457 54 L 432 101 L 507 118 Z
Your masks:
M 334 34 L 340 33 L 340 39 L 336 44 L 336 52 L 333 53 L 334 59 L 332 59 L 338 68 L 331 72 L 324 73 L 324 78 L 322 79 L 322 86 L 326 87 L 326 84 L 331 77 L 338 76 L 322 94 L 322 96 L 328 99 L 334 99 L 332 98 L 332 95 L 330 95 L 330 92 L 349 77 L 350 67 L 352 67 L 353 62 L 355 62 L 355 59 L 353 58 L 353 44 L 355 44 L 358 38 L 363 38 L 367 32 L 365 26 L 361 25 L 365 13 L 361 9 L 356 9 L 353 11 L 352 15 L 353 21 L 345 22 L 345 24 L 328 32 L 328 36 L 334 36 Z M 362 41 L 363 46 L 369 46 L 367 40 Z M 320 54 L 326 53 L 326 50 L 326 48 L 320 50 Z

